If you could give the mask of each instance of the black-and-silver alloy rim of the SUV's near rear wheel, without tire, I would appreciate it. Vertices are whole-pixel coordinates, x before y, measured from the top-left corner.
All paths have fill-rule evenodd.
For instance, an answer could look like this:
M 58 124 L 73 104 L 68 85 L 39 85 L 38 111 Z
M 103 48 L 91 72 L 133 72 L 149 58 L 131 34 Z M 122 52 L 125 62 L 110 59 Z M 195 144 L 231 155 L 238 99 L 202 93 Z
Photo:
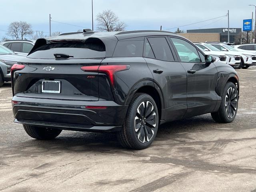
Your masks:
M 143 101 L 137 108 L 134 128 L 138 140 L 142 143 L 149 142 L 156 131 L 158 119 L 155 110 L 150 101 Z

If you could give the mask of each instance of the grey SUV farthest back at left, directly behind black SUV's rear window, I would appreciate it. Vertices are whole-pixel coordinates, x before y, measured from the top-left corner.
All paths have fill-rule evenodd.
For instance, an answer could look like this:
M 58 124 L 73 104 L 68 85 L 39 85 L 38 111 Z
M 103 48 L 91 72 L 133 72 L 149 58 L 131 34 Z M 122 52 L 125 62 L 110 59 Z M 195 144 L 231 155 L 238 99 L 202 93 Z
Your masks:
M 33 48 L 36 41 L 34 40 L 7 40 L 0 42 L 3 46 L 9 48 L 17 54 L 27 56 L 30 50 Z

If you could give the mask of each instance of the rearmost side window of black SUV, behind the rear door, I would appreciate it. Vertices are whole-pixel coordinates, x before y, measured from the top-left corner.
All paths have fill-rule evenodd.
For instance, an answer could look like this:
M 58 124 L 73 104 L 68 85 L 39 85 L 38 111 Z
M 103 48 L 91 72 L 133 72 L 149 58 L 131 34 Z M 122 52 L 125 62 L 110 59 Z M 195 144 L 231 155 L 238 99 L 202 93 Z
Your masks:
M 113 57 L 142 57 L 144 40 L 120 40 Z

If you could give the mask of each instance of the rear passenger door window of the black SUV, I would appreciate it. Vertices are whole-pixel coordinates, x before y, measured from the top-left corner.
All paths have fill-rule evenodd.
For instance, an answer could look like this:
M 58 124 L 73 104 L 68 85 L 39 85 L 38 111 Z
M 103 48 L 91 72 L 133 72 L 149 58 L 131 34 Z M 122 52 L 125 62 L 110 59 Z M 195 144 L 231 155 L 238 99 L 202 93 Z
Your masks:
M 148 38 L 148 41 L 158 60 L 174 61 L 172 51 L 165 37 L 151 37 L 151 38 Z

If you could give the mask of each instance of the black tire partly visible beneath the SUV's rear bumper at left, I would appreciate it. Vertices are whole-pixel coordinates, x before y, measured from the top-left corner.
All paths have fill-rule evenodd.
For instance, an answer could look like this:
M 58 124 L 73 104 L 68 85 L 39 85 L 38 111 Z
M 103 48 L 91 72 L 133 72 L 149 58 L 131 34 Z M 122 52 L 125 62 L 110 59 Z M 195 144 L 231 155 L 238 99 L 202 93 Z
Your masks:
M 35 139 L 50 140 L 56 138 L 61 132 L 61 129 L 42 128 L 31 125 L 23 125 L 26 133 Z

